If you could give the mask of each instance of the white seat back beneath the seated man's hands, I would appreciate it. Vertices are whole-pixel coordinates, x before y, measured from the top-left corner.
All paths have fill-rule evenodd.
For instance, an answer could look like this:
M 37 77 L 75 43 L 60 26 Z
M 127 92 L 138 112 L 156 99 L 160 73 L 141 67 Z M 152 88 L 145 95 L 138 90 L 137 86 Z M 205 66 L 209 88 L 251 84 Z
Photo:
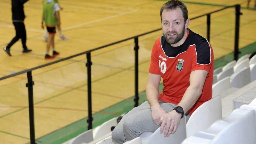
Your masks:
M 141 134 L 142 144 L 180 144 L 186 138 L 186 118 L 180 120 L 179 126 L 174 134 L 168 137 L 163 136 L 164 131 L 160 134 L 160 127 L 154 132 L 144 132 Z

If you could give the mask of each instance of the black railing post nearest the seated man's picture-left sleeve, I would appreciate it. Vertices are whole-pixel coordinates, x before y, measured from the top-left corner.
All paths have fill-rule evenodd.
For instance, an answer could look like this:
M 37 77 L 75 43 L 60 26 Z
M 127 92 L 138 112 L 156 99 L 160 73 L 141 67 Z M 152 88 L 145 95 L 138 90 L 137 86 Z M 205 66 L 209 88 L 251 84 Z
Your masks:
M 134 107 L 138 106 L 139 105 L 139 83 L 138 83 L 138 79 L 139 79 L 139 76 L 138 76 L 138 71 L 139 71 L 139 68 L 138 68 L 138 49 L 139 49 L 139 42 L 138 42 L 138 37 L 134 38 L 134 42 L 135 42 L 135 47 L 134 47 L 134 51 L 135 51 L 135 98 L 134 98 Z

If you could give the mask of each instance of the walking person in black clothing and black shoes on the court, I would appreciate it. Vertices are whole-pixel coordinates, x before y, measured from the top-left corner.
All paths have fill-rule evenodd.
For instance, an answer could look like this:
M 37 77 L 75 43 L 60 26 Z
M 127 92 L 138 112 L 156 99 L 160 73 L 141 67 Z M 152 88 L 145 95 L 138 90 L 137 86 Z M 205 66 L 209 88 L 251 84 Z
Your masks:
M 17 42 L 20 38 L 22 41 L 22 52 L 27 53 L 32 51 L 31 49 L 28 49 L 26 46 L 26 29 L 24 25 L 24 19 L 25 19 L 25 14 L 23 10 L 23 4 L 26 3 L 29 0 L 12 0 L 12 13 L 13 13 L 13 25 L 15 27 L 16 35 L 15 37 L 11 40 L 11 42 L 3 48 L 3 50 L 9 55 L 10 54 L 10 48 L 11 46 Z

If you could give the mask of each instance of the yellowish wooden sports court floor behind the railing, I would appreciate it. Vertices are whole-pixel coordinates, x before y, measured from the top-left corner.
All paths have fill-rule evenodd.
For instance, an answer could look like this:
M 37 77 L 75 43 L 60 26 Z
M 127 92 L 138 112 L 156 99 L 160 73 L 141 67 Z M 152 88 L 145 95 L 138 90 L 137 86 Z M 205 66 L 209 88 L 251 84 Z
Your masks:
M 11 48 L 9 57 L 0 50 L 0 77 L 71 56 L 95 47 L 129 38 L 161 27 L 159 10 L 165 1 L 156 0 L 59 0 L 63 34 L 69 39 L 60 41 L 56 34 L 54 60 L 45 60 L 46 42 L 40 28 L 42 1 L 30 0 L 24 5 L 27 46 L 33 51 L 22 54 L 21 41 Z M 239 48 L 256 42 L 256 10 L 246 9 L 244 0 L 184 1 L 189 18 L 224 6 L 242 4 Z M 251 7 L 253 2 L 251 2 Z M 0 0 L 0 48 L 14 37 L 10 0 Z M 230 8 L 211 15 L 211 39 L 214 58 L 234 49 L 235 10 Z M 206 17 L 192 20 L 189 28 L 206 37 Z M 161 36 L 158 31 L 139 38 L 139 92 L 145 91 L 151 49 Z M 93 113 L 103 112 L 134 95 L 134 41 L 92 52 Z M 87 117 L 86 55 L 79 56 L 32 72 L 36 139 L 50 136 Z M 29 110 L 26 74 L 0 81 L 0 143 L 29 143 Z M 95 121 L 95 119 L 94 119 Z M 86 124 L 86 122 L 84 122 Z M 72 128 L 70 129 L 72 131 Z M 86 131 L 84 129 L 83 131 Z M 72 133 L 72 132 L 71 132 Z M 65 137 L 65 134 L 62 134 Z M 75 135 L 73 135 L 74 137 Z M 72 136 L 70 136 L 72 137 Z M 46 139 L 50 139 L 49 137 Z M 41 143 L 60 143 L 44 142 Z

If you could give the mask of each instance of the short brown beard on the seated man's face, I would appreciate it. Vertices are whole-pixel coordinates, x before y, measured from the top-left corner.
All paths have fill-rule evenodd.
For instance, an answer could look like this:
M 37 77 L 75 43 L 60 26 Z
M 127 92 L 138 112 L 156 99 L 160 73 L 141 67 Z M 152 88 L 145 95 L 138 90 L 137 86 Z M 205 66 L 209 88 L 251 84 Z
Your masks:
M 176 37 L 169 36 L 169 38 L 168 38 L 168 34 L 174 34 L 174 33 L 176 34 Z M 184 25 L 184 28 L 181 33 L 178 33 L 177 31 L 171 31 L 171 32 L 167 32 L 165 34 L 163 33 L 163 37 L 165 38 L 167 43 L 176 44 L 183 38 L 184 33 L 185 33 L 185 25 Z

